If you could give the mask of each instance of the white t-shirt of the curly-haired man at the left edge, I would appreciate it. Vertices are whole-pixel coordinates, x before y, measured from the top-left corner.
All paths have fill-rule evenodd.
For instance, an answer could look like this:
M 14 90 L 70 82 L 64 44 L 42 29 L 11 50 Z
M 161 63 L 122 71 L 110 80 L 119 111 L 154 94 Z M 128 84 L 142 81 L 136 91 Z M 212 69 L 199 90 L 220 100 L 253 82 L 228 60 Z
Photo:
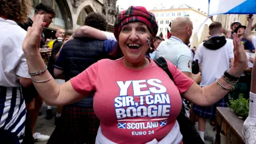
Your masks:
M 0 86 L 20 86 L 18 76 L 30 78 L 25 54 L 22 51 L 27 31 L 15 21 L 0 18 Z

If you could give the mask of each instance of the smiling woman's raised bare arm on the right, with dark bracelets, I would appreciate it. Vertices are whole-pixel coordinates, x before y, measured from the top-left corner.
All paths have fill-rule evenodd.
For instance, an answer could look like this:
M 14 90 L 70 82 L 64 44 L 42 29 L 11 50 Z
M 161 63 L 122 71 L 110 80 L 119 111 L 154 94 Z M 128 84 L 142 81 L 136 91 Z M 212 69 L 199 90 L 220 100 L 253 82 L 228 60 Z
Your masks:
M 244 51 L 244 46 L 238 39 L 237 34 L 234 34 L 234 54 L 234 65 L 227 71 L 227 73 L 231 76 L 239 77 L 245 68 L 247 68 L 247 57 Z M 256 81 L 256 77 L 254 77 L 254 81 Z M 223 96 L 226 95 L 234 86 L 234 84 L 228 83 L 222 77 L 218 79 L 218 83 L 219 85 L 217 82 L 214 82 L 205 87 L 200 87 L 194 83 L 186 92 L 182 93 L 182 96 L 199 106 L 211 106 L 213 103 L 223 98 Z M 255 88 L 256 86 L 254 86 L 254 89 Z

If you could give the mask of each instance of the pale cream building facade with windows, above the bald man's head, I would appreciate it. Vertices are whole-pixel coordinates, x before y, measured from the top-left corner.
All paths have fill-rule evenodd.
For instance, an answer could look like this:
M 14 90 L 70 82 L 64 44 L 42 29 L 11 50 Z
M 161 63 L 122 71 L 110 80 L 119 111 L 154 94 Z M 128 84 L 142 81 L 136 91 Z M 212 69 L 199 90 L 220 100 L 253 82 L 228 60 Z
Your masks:
M 167 29 L 171 31 L 169 27 L 170 22 L 177 17 L 189 17 L 193 22 L 193 32 L 207 18 L 206 13 L 201 12 L 199 9 L 193 9 L 187 5 L 171 6 L 170 9 L 165 9 L 165 7 L 157 9 L 157 7 L 155 7 L 153 10 L 150 10 L 150 12 L 155 14 L 158 23 L 157 35 L 162 32 L 164 38 L 167 38 Z

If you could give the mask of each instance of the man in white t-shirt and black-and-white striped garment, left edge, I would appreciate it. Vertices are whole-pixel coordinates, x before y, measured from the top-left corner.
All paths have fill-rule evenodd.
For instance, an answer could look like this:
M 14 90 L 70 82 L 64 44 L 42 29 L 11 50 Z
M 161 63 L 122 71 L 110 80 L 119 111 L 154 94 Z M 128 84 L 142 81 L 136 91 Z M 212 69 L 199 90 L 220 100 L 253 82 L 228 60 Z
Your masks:
M 20 86 L 32 81 L 22 51 L 27 32 L 17 22 L 27 20 L 26 2 L 1 1 L 0 6 L 0 143 L 21 143 L 25 136 L 26 105 Z

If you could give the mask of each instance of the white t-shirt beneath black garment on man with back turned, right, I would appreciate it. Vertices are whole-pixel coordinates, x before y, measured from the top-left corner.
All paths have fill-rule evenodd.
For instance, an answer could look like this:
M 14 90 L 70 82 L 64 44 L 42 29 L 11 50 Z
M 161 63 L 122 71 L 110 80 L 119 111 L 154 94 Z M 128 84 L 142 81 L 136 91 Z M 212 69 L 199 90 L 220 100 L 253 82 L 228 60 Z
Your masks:
M 200 86 L 212 84 L 229 69 L 229 61 L 234 58 L 233 49 L 232 39 L 227 39 L 227 43 L 218 50 L 206 49 L 203 43 L 198 46 L 194 61 L 198 59 L 198 63 L 202 63 Z

